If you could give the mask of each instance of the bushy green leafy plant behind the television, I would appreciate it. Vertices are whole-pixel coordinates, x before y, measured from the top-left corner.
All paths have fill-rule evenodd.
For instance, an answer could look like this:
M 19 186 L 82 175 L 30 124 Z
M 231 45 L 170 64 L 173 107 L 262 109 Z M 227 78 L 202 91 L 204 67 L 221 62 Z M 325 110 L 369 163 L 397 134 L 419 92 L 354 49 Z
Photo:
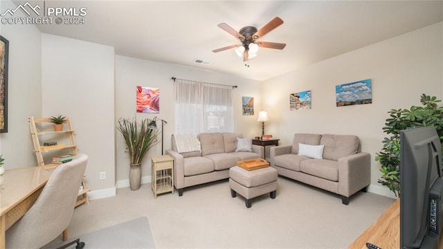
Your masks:
M 443 142 L 443 106 L 442 100 L 422 94 L 423 107 L 412 106 L 410 109 L 391 109 L 390 118 L 386 119 L 383 132 L 389 136 L 383 139 L 383 147 L 376 154 L 375 160 L 381 164 L 382 173 L 379 183 L 400 196 L 400 131 L 417 127 L 435 127 L 440 142 Z

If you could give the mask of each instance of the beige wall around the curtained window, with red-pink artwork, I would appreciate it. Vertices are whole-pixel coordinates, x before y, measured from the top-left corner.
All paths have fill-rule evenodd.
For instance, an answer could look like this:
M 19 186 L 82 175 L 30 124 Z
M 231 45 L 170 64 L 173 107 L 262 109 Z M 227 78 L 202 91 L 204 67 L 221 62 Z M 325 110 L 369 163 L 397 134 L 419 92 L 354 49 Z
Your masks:
M 116 119 L 143 118 L 152 119 L 155 116 L 166 120 L 164 125 L 164 149 L 171 148 L 171 135 L 174 133 L 174 82 L 172 77 L 216 84 L 237 85 L 233 89 L 235 131 L 244 133 L 245 137 L 253 137 L 260 132 L 257 123 L 257 114 L 261 109 L 260 82 L 246 80 L 226 73 L 215 73 L 197 68 L 150 62 L 132 57 L 116 56 Z M 160 89 L 160 112 L 159 113 L 136 113 L 136 86 L 148 86 Z M 242 115 L 242 96 L 254 97 L 255 116 Z M 157 123 L 159 126 L 161 122 Z M 116 175 L 118 186 L 129 185 L 129 159 L 125 154 L 125 144 L 121 134 L 116 131 Z M 147 183 L 151 178 L 150 156 L 161 154 L 161 143 L 148 151 L 142 165 L 143 182 Z

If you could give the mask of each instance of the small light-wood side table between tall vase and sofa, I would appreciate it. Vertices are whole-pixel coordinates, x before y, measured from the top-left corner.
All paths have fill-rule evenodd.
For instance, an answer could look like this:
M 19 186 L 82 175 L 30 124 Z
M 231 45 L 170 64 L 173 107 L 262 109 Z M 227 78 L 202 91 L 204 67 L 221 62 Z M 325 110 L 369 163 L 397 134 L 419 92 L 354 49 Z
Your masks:
M 174 194 L 173 166 L 174 158 L 169 155 L 151 156 L 151 187 L 155 199 L 157 199 L 157 194 L 167 192 L 172 192 L 172 194 Z

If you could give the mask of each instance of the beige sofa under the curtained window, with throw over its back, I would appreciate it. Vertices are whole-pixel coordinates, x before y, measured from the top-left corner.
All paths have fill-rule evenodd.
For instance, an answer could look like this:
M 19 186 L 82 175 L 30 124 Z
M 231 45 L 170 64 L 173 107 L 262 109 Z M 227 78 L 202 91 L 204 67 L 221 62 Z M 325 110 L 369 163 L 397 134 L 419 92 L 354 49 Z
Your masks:
M 166 154 L 174 158 L 174 186 L 179 196 L 185 187 L 229 178 L 230 167 L 239 160 L 263 158 L 262 146 L 251 143 L 248 149 L 242 149 L 237 146 L 237 138 L 245 141 L 241 140 L 242 133 L 199 133 L 201 150 L 179 153 L 173 135 L 172 149 L 167 149 Z M 247 151 L 249 149 L 251 151 Z

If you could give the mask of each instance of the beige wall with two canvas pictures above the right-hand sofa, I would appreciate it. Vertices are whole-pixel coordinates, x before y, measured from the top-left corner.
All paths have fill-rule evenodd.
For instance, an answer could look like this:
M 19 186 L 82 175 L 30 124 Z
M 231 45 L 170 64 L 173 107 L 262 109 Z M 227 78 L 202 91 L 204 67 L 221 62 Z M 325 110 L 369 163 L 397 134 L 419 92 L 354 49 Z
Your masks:
M 442 30 L 442 23 L 434 24 L 266 80 L 266 133 L 282 145 L 291 144 L 293 133 L 355 134 L 372 157 L 370 191 L 390 195 L 377 183 L 381 174 L 374 161 L 386 135 L 382 127 L 390 109 L 417 105 L 422 93 L 443 97 Z M 365 79 L 372 80 L 372 104 L 336 107 L 336 85 Z M 307 90 L 312 109 L 289 111 L 289 93 Z

